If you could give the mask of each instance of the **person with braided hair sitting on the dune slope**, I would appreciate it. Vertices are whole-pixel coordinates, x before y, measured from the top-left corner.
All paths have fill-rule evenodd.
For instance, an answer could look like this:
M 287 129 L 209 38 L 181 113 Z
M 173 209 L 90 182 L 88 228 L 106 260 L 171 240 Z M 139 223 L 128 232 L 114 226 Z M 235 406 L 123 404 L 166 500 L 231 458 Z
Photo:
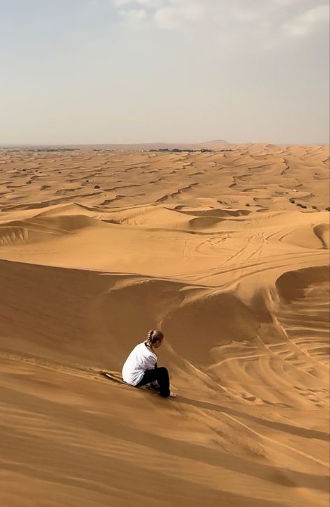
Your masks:
M 162 345 L 162 331 L 149 331 L 148 339 L 136 345 L 127 357 L 122 370 L 123 381 L 131 386 L 141 387 L 150 384 L 162 398 L 175 394 L 170 389 L 168 371 L 163 366 L 158 368 L 155 349 Z

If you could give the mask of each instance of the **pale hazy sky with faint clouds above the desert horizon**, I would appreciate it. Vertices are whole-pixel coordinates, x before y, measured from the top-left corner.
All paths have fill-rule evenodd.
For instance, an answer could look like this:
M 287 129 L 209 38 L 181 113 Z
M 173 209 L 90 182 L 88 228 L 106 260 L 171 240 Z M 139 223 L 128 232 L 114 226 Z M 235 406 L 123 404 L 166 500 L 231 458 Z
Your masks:
M 0 144 L 329 142 L 328 0 L 0 0 Z

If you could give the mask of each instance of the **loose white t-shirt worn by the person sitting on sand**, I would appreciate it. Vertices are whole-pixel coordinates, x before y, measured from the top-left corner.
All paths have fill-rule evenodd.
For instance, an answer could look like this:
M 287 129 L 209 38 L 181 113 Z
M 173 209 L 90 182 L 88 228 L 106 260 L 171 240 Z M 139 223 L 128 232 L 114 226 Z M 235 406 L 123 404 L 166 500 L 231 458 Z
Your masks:
M 157 356 L 145 344 L 136 345 L 127 357 L 122 370 L 123 381 L 132 386 L 139 384 L 146 370 L 152 370 L 157 363 Z

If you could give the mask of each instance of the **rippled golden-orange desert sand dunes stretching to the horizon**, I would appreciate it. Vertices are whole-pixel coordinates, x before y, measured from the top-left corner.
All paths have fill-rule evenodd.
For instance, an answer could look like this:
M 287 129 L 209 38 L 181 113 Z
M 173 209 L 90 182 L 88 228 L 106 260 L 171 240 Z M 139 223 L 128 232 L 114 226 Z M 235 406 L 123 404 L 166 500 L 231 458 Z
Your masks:
M 0 152 L 1 507 L 329 505 L 329 147 L 220 149 Z

